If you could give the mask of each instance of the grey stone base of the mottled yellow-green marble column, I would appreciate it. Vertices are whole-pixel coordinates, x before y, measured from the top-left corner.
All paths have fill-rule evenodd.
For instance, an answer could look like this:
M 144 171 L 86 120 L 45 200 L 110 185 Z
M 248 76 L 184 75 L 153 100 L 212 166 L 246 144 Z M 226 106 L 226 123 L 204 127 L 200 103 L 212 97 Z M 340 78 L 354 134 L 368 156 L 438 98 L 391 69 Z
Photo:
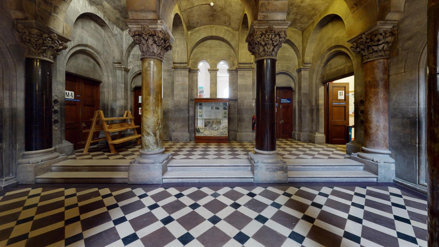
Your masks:
M 167 164 L 172 160 L 170 153 L 140 150 L 140 155 L 128 166 L 129 184 L 161 184 L 163 174 L 168 170 Z

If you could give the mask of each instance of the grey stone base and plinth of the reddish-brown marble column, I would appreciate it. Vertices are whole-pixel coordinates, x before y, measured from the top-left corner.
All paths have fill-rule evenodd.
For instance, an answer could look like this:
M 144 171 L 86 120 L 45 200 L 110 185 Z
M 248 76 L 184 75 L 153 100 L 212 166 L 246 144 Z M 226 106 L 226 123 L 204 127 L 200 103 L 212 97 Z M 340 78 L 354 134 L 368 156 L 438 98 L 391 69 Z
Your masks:
M 364 156 L 363 155 L 360 156 L 359 154 L 363 154 L 363 153 L 353 153 L 351 154 L 350 158 L 352 160 L 363 163 L 364 171 L 368 171 L 370 173 L 378 175 L 378 182 L 393 182 L 393 178 L 395 178 L 395 162 L 393 163 L 377 162 L 375 160 L 363 158 L 363 157 L 370 158 L 371 157 L 370 153 L 366 153 L 366 155 Z

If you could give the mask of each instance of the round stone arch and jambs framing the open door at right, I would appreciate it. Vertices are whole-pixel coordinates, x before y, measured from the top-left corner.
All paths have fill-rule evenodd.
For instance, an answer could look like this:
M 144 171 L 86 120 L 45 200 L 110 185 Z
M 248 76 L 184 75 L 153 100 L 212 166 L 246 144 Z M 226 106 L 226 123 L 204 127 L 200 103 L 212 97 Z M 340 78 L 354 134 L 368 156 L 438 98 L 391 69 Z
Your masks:
M 347 55 L 353 64 L 353 70 L 354 70 L 354 80 L 355 80 L 355 102 L 354 102 L 354 112 L 355 112 L 355 125 L 356 125 L 356 131 L 355 136 L 356 140 L 359 139 L 361 143 L 363 143 L 363 128 L 362 125 L 358 123 L 359 120 L 359 114 L 358 114 L 358 101 L 360 98 L 363 97 L 364 94 L 364 79 L 363 79 L 363 65 L 362 60 L 359 55 L 354 55 L 349 48 L 342 46 L 342 45 L 336 45 L 333 47 L 328 48 L 324 54 L 319 59 L 318 63 L 316 64 L 316 69 L 314 69 L 314 73 L 310 76 L 312 76 L 312 80 L 310 81 L 310 89 L 309 94 L 311 97 L 311 101 L 313 102 L 313 105 L 310 105 L 310 108 L 312 108 L 311 116 L 310 116 L 310 122 L 311 128 L 309 132 L 316 133 L 318 135 L 324 134 L 324 83 L 322 81 L 322 76 L 324 72 L 324 68 L 327 65 L 329 61 L 331 61 L 332 58 L 334 58 L 337 54 L 345 54 Z M 358 127 L 358 128 L 357 128 Z

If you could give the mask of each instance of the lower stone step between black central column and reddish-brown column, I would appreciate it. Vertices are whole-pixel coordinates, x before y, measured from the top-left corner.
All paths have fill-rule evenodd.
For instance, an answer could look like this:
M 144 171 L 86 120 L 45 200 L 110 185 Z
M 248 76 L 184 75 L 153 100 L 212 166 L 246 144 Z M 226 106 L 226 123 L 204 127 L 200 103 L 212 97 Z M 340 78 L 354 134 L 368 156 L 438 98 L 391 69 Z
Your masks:
M 363 170 L 288 171 L 288 182 L 377 182 L 378 176 Z

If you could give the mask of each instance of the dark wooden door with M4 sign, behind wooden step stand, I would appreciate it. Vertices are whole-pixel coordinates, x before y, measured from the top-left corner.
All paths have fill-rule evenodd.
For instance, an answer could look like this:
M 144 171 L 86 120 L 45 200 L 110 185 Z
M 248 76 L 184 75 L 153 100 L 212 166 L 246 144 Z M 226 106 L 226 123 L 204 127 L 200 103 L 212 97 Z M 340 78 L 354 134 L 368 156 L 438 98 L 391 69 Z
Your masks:
M 84 147 L 94 112 L 99 110 L 100 83 L 94 80 L 65 75 L 65 90 L 73 92 L 73 98 L 65 98 L 65 139 L 74 149 Z M 98 133 L 95 134 L 95 138 Z

